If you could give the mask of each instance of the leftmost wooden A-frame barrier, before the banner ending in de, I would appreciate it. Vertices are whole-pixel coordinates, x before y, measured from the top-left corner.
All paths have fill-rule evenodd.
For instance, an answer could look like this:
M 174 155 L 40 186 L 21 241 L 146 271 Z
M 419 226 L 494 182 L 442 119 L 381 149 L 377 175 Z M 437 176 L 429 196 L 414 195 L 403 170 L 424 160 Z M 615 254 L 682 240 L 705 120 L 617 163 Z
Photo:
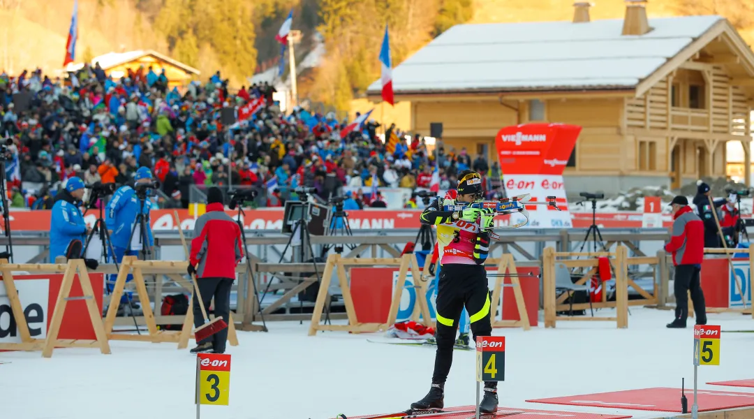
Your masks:
M 26 317 L 23 314 L 23 306 L 14 283 L 13 271 L 63 274 L 63 282 L 60 284 L 60 292 L 57 295 L 47 338 L 44 340 L 34 339 L 29 334 L 29 325 L 26 323 Z M 8 263 L 7 259 L 0 259 L 0 272 L 2 272 L 5 292 L 8 294 L 8 300 L 11 301 L 11 310 L 21 337 L 20 344 L 0 344 L 0 350 L 41 350 L 42 356 L 45 358 L 52 356 L 55 347 L 99 347 L 101 353 L 110 353 L 110 345 L 102 323 L 102 313 L 100 313 L 97 301 L 94 299 L 91 281 L 83 259 L 70 260 L 66 264 L 11 264 Z M 66 311 L 66 304 L 69 300 L 71 286 L 77 277 L 77 273 L 83 295 L 75 298 L 86 301 L 89 318 L 97 339 L 57 338 L 60 332 L 60 324 L 63 322 L 63 313 Z

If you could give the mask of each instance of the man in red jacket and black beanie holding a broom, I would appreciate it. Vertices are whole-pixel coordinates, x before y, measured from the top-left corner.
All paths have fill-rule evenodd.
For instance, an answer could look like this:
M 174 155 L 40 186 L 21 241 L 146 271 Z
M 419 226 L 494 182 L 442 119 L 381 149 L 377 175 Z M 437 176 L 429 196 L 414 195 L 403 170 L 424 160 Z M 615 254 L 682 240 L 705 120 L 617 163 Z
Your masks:
M 222 191 L 213 187 L 207 190 L 207 213 L 196 220 L 194 239 L 191 242 L 189 275 L 196 274 L 204 308 L 209 312 L 215 298 L 215 316 L 230 322 L 231 286 L 235 268 L 244 256 L 241 228 L 225 213 Z M 198 265 L 198 266 L 197 266 Z M 204 324 L 204 317 L 194 294 L 194 326 Z M 204 341 L 197 342 L 192 353 L 224 353 L 228 328 L 222 329 Z

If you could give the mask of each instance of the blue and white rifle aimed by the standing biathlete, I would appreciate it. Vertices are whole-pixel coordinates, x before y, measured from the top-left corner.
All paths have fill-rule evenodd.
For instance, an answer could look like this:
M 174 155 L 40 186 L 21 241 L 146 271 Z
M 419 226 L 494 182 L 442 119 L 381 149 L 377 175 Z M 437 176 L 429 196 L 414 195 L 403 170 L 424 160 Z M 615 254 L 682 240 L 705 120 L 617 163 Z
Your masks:
M 495 215 L 520 213 L 524 217 L 523 222 L 517 222 L 513 225 L 504 225 L 499 228 L 521 228 L 524 225 L 529 224 L 529 211 L 526 210 L 526 205 L 547 205 L 552 206 L 558 211 L 562 211 L 562 209 L 558 208 L 555 197 L 547 197 L 546 201 L 535 201 L 531 199 L 532 197 L 529 194 L 523 194 L 517 195 L 515 197 L 501 198 L 500 200 L 492 201 L 478 200 L 472 203 L 456 201 L 452 205 L 443 206 L 443 209 L 445 211 L 462 211 L 467 208 L 492 208 L 495 210 Z M 492 232 L 492 226 L 483 227 L 482 225 L 480 225 L 480 219 L 477 219 L 477 222 L 466 222 L 464 220 L 458 220 L 457 222 L 453 222 L 452 224 L 455 225 L 456 228 L 461 228 L 461 230 L 464 231 L 487 231 L 489 232 L 489 237 L 492 240 L 500 240 L 500 236 Z

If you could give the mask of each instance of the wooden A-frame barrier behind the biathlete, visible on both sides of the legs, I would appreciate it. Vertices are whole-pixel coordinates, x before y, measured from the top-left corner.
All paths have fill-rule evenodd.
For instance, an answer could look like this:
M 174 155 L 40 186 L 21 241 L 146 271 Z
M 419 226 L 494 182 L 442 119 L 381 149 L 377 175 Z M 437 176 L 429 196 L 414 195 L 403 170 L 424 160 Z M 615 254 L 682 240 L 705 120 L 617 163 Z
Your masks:
M 529 330 L 531 328 L 531 323 L 529 322 L 529 314 L 526 312 L 526 302 L 523 298 L 523 291 L 521 289 L 521 283 L 513 255 L 506 253 L 502 255 L 501 258 L 490 258 L 489 261 L 498 264 L 498 271 L 495 277 L 495 286 L 492 291 L 492 301 L 490 304 L 492 327 L 521 327 L 524 330 Z M 393 298 L 386 323 L 359 323 L 356 316 L 356 310 L 354 309 L 354 302 L 351 298 L 351 288 L 348 286 L 348 277 L 346 276 L 345 271 L 345 266 L 347 265 L 400 266 L 398 271 L 398 282 L 393 292 Z M 425 263 L 425 272 L 428 271 L 428 266 L 429 265 Z M 400 308 L 400 298 L 403 294 L 403 289 L 406 286 L 406 274 L 408 274 L 409 269 L 411 270 L 412 278 L 421 278 L 421 280 L 414 280 L 413 288 L 415 289 L 417 298 L 411 319 L 416 322 L 421 322 L 425 324 L 425 326 L 434 326 L 434 322 L 431 320 L 429 314 L 427 298 L 419 297 L 420 295 L 427 295 L 427 283 L 433 278 L 426 275 L 424 277 L 421 276 L 418 270 L 418 262 L 416 261 L 416 256 L 414 254 L 403 255 L 400 258 L 342 258 L 338 254 L 333 254 L 329 255 L 327 258 L 322 276 L 322 283 L 320 284 L 320 290 L 317 294 L 317 302 L 314 304 L 314 313 L 312 313 L 311 316 L 309 335 L 316 335 L 317 330 L 341 330 L 353 333 L 383 332 L 387 330 L 395 323 L 397 318 L 398 310 Z M 334 271 L 337 272 L 338 281 L 343 293 L 345 311 L 348 315 L 348 325 L 328 326 L 320 324 L 326 299 L 329 298 L 328 288 L 333 279 Z M 510 284 L 504 283 L 505 277 L 510 277 Z M 495 320 L 495 314 L 498 311 L 498 304 L 504 286 L 510 286 L 513 288 L 513 297 L 516 300 L 516 307 L 518 309 L 520 320 Z M 419 317 L 420 315 L 421 319 Z

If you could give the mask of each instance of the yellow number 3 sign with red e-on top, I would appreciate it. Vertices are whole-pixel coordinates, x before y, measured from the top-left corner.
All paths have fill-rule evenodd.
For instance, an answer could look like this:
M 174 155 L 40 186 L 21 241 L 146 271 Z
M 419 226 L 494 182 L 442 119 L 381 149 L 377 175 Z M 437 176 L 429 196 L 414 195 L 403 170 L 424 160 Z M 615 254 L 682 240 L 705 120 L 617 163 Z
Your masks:
M 198 354 L 196 398 L 199 399 L 199 404 L 228 405 L 230 384 L 231 356 L 229 354 Z

